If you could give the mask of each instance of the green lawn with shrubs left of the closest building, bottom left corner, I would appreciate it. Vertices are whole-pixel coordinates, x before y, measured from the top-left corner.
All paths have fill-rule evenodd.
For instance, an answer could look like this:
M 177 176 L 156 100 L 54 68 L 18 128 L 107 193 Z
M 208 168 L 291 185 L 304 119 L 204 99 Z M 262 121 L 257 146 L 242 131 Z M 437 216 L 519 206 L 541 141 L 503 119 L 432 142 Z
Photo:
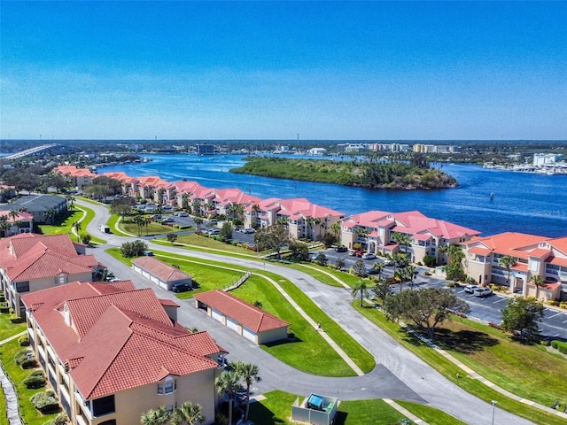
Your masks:
M 39 413 L 39 411 L 36 410 L 29 401 L 31 396 L 33 396 L 36 392 L 45 390 L 45 388 L 39 390 L 28 390 L 22 383 L 27 375 L 29 375 L 33 370 L 24 370 L 14 361 L 14 356 L 22 348 L 23 347 L 19 346 L 17 339 L 10 343 L 0 345 L 0 359 L 2 359 L 2 363 L 4 364 L 8 375 L 12 379 L 12 383 L 15 384 L 15 388 L 18 393 L 19 413 L 23 417 L 24 421 L 26 421 L 27 425 L 43 425 L 44 422 L 50 421 L 57 416 L 57 413 L 45 415 Z

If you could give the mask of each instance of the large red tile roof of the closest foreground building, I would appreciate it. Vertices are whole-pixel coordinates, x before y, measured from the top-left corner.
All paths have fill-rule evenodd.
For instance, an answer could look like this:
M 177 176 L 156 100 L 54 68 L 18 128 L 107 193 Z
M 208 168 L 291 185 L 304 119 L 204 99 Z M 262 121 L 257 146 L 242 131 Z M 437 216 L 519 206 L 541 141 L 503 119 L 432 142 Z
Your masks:
M 117 292 L 126 282 L 73 282 L 22 297 L 83 398 L 217 367 L 208 357 L 226 351 L 211 336 L 173 323 L 152 290 Z

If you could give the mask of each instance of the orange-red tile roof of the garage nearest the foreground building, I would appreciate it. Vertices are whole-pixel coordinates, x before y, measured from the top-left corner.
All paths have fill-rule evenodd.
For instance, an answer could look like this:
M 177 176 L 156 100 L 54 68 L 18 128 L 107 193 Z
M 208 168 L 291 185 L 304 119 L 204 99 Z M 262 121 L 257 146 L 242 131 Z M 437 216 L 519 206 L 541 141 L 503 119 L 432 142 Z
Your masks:
M 202 292 L 195 295 L 194 298 L 255 332 L 283 328 L 290 325 L 287 321 L 282 321 L 276 316 L 266 313 L 260 308 L 222 290 Z

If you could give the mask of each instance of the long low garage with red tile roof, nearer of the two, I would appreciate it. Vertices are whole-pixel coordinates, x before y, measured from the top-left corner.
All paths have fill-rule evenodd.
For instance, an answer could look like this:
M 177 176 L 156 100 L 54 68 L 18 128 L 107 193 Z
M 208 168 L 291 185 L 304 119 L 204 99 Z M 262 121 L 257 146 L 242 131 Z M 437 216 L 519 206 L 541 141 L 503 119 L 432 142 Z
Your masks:
M 254 344 L 267 344 L 287 338 L 290 324 L 222 290 L 195 295 L 195 307 L 223 325 L 236 330 Z

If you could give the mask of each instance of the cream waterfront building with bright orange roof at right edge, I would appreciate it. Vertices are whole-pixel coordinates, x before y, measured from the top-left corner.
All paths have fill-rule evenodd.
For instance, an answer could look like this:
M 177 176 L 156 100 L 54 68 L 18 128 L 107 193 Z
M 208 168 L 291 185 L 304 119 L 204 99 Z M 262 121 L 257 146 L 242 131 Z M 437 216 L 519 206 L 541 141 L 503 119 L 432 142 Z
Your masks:
M 543 301 L 567 298 L 567 237 L 505 232 L 462 243 L 465 272 L 480 284 L 495 283 Z M 509 256 L 509 270 L 501 263 Z M 541 285 L 534 284 L 540 276 Z

